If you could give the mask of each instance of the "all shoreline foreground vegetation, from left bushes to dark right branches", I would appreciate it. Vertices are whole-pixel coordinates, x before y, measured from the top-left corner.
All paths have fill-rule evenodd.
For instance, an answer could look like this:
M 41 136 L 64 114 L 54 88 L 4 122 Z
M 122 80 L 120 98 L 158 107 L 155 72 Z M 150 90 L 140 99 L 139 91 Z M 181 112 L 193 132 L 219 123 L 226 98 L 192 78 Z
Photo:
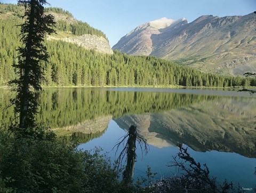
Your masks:
M 78 150 L 75 141 L 57 138 L 45 127 L 28 129 L 0 130 L 0 192 L 244 192 L 231 182 L 219 183 L 181 146 L 171 165 L 182 175 L 152 183 L 148 168 L 147 179 L 126 186 L 123 170 L 100 149 Z

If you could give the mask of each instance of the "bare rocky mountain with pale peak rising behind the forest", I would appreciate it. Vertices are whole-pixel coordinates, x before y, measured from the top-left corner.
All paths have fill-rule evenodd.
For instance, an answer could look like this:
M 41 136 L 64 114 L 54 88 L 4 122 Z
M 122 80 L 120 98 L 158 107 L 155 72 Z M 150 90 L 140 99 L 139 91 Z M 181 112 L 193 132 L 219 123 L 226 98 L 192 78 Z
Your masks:
M 131 55 L 154 55 L 201 71 L 243 75 L 256 71 L 256 14 L 162 18 L 141 25 L 113 46 Z

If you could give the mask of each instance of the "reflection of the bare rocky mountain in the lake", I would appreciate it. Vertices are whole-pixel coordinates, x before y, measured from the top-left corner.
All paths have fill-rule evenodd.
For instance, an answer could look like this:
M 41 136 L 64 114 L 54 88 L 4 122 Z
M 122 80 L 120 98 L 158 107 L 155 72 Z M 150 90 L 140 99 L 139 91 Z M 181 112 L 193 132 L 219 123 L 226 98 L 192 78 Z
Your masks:
M 115 119 L 121 128 L 137 125 L 139 133 L 156 147 L 187 144 L 196 151 L 236 152 L 256 157 L 253 102 L 225 99 L 205 101 L 158 114 Z

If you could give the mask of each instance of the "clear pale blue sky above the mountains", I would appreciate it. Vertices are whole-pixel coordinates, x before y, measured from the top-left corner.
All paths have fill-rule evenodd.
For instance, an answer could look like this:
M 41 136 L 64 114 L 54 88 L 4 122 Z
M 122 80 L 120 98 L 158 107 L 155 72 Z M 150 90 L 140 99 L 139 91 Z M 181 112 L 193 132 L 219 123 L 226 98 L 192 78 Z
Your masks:
M 0 0 L 17 3 L 16 0 Z M 110 46 L 134 28 L 163 17 L 186 18 L 192 22 L 201 15 L 225 17 L 256 11 L 256 0 L 48 0 L 52 7 L 71 12 L 78 20 L 100 29 Z

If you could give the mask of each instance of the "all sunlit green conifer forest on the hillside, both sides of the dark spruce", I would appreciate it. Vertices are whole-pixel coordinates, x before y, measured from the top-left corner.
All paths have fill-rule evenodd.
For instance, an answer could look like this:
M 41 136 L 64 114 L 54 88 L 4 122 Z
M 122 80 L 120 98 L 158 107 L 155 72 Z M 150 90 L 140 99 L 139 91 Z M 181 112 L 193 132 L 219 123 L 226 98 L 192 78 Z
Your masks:
M 17 63 L 17 49 L 21 45 L 17 26 L 21 19 L 17 16 L 22 9 L 17 5 L 0 4 L 0 10 L 0 86 L 6 86 L 15 77 L 12 64 Z M 71 15 L 61 9 L 48 10 L 67 14 L 67 17 Z M 95 33 L 103 36 L 99 30 L 92 30 L 79 22 L 76 25 L 72 22 L 57 23 L 57 28 L 60 33 L 71 31 L 79 35 Z M 256 85 L 255 79 L 205 74 L 155 57 L 133 57 L 120 52 L 101 54 L 60 40 L 47 41 L 46 46 L 50 58 L 48 63 L 42 63 L 45 86 Z

